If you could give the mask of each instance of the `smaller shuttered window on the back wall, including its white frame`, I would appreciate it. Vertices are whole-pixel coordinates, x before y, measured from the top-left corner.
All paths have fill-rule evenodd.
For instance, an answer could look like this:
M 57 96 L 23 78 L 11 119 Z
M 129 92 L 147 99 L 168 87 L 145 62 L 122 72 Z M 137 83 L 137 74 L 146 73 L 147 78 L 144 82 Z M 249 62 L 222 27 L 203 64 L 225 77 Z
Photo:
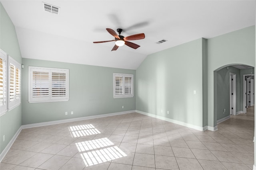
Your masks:
M 133 97 L 133 74 L 114 73 L 114 98 Z

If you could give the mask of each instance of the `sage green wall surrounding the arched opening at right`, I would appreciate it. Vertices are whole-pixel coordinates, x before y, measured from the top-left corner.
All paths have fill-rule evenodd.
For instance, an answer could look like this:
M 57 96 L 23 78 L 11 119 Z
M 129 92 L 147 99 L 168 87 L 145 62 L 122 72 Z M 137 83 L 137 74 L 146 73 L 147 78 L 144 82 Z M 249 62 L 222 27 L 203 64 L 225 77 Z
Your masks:
M 221 68 L 232 64 L 255 66 L 255 26 L 210 38 L 207 43 L 208 126 L 214 127 L 217 125 L 217 105 L 214 103 L 214 74 Z

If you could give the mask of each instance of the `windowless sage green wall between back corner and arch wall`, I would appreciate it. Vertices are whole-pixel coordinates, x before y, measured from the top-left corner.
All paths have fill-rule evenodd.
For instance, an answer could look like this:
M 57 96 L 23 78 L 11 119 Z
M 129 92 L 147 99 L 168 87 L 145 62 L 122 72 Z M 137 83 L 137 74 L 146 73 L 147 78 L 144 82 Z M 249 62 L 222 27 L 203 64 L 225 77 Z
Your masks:
M 136 110 L 202 127 L 203 41 L 148 55 L 136 70 Z

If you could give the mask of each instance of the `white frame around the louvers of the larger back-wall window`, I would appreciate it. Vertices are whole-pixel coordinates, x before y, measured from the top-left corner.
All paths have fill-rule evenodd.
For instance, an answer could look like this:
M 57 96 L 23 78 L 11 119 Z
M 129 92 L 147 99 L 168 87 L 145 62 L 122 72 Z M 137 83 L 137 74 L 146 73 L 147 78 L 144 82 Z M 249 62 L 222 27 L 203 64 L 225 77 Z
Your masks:
M 32 97 L 32 76 L 33 76 L 33 71 L 32 70 L 48 70 L 49 72 L 51 71 L 56 71 L 56 72 L 65 72 L 66 73 L 66 96 L 65 98 L 58 98 L 54 99 L 52 97 L 52 94 L 49 94 L 49 97 L 46 99 L 42 98 L 33 98 Z M 52 82 L 52 76 L 50 74 L 50 82 L 49 82 L 49 93 L 51 91 L 51 82 Z M 49 67 L 37 67 L 37 66 L 28 66 L 28 102 L 29 103 L 43 103 L 43 102 L 65 102 L 69 100 L 69 69 L 65 68 L 49 68 Z

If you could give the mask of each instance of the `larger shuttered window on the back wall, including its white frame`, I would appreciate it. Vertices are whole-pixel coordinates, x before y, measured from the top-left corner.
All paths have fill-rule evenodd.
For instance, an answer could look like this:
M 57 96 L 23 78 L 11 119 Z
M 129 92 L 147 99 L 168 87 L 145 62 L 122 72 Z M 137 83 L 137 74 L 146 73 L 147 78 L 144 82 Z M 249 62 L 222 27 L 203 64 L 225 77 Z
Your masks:
M 68 101 L 68 69 L 29 66 L 28 102 Z

